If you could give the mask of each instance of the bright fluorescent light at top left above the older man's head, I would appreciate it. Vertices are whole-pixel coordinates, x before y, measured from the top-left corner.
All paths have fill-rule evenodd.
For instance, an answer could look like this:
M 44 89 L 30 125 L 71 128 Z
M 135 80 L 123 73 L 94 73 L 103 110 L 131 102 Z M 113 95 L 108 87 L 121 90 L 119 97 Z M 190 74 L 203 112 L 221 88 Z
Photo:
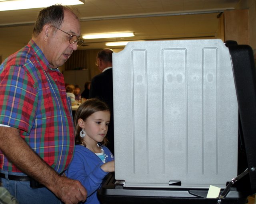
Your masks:
M 29 8 L 44 8 L 54 4 L 78 5 L 83 0 L 8 0 L 0 1 L 0 11 L 20 10 Z

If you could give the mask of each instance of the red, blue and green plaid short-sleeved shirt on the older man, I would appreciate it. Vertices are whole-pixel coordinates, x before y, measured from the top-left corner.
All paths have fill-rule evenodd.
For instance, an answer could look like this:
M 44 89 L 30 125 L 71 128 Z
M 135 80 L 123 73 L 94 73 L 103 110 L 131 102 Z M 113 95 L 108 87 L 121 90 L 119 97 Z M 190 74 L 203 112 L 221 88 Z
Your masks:
M 58 173 L 68 167 L 74 124 L 64 77 L 32 40 L 0 65 L 0 124 L 20 129 L 20 137 Z M 0 169 L 20 172 L 1 151 Z

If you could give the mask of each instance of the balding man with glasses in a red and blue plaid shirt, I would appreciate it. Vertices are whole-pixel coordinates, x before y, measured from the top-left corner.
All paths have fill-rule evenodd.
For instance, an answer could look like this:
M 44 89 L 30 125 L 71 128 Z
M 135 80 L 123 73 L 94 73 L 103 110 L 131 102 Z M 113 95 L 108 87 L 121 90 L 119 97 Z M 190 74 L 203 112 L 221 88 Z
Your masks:
M 66 6 L 43 9 L 28 45 L 0 65 L 0 176 L 20 204 L 86 200 L 62 173 L 74 152 L 72 110 L 58 70 L 82 45 L 80 23 Z

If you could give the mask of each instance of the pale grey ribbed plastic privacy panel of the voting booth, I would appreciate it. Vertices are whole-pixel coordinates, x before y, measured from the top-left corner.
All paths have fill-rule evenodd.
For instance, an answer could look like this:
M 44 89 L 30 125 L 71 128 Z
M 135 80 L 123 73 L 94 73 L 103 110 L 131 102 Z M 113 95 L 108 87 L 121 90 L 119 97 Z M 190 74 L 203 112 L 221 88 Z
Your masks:
M 113 53 L 113 85 L 117 180 L 208 188 L 236 177 L 238 104 L 221 40 L 128 43 Z

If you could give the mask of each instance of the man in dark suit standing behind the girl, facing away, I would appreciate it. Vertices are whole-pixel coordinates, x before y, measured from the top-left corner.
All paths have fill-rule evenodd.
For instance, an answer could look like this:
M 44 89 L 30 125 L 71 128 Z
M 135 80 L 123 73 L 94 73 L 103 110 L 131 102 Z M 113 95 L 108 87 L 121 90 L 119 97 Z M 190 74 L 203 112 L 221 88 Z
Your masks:
M 97 66 L 100 74 L 92 78 L 89 98 L 98 98 L 110 108 L 110 124 L 108 126 L 108 149 L 114 154 L 114 115 L 113 115 L 113 76 L 111 49 L 103 49 L 97 55 Z

